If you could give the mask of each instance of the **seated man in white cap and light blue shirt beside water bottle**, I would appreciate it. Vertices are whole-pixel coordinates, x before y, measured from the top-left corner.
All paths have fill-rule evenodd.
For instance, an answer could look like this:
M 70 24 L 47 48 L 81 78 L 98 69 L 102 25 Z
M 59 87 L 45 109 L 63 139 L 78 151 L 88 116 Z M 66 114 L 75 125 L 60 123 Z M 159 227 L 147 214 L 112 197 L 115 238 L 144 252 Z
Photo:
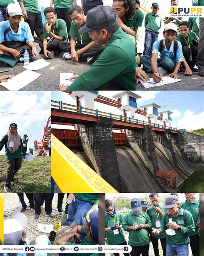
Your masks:
M 40 57 L 29 25 L 21 21 L 23 14 L 19 4 L 10 3 L 6 13 L 8 20 L 0 22 L 0 54 L 17 60 L 24 49 L 31 48 L 32 55 Z

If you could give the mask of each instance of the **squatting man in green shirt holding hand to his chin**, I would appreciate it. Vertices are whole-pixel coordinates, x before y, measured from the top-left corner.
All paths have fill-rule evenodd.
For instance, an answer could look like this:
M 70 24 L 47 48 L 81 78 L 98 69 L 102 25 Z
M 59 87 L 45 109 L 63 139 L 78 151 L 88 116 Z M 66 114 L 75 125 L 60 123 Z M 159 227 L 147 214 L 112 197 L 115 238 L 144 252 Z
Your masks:
M 34 37 L 34 42 L 39 43 L 45 58 L 54 58 L 59 50 L 59 42 L 68 40 L 67 27 L 64 20 L 57 19 L 53 7 L 45 8 L 44 15 L 47 22 L 43 24 L 43 38 Z

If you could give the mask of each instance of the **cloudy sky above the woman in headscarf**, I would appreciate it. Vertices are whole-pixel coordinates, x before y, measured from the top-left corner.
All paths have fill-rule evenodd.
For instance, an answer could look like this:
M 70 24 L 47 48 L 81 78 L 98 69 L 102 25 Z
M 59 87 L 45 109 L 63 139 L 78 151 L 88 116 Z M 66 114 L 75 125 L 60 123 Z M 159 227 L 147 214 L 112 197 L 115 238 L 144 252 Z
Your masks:
M 51 115 L 50 98 L 51 92 L 49 91 L 1 91 L 0 139 L 8 131 L 9 125 L 16 123 L 19 135 L 23 137 L 24 134 L 28 134 L 28 148 L 33 148 L 35 140 L 42 140 L 44 127 Z M 0 154 L 4 153 L 3 148 Z

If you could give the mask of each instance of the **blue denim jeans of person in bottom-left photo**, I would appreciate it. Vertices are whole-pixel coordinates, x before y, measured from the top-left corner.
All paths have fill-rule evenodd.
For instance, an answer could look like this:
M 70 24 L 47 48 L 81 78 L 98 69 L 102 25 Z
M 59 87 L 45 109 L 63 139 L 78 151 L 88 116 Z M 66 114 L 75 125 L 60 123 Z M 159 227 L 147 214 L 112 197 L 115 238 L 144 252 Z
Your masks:
M 90 202 L 75 198 L 75 202 L 72 201 L 68 206 L 68 218 L 66 219 L 66 223 L 70 225 L 75 220 L 75 225 L 83 226 L 83 218 L 87 214 L 87 211 L 92 208 L 92 205 L 93 204 Z

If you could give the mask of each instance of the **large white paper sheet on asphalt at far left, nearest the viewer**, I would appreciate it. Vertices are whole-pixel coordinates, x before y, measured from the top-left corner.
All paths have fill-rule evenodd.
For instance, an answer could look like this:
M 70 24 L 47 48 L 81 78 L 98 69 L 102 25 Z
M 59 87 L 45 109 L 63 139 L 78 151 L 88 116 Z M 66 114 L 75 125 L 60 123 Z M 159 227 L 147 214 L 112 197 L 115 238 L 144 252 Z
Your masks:
M 15 77 L 12 77 L 12 79 L 8 79 L 8 82 L 0 83 L 0 85 L 10 91 L 18 91 L 40 76 L 41 74 L 36 73 L 32 70 L 25 70 L 22 73 L 16 75 Z

